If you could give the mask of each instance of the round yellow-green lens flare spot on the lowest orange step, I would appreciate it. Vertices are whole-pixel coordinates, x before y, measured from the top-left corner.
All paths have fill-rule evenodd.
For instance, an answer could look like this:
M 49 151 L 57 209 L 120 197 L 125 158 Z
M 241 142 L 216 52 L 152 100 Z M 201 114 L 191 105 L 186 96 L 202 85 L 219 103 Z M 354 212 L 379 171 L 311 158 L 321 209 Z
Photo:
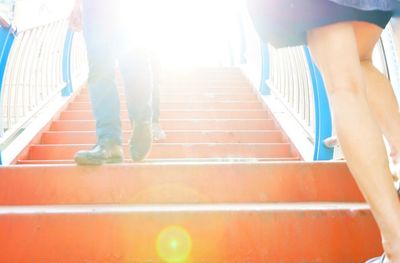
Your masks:
M 168 263 L 183 263 L 192 250 L 189 233 L 180 226 L 169 226 L 157 237 L 157 253 Z

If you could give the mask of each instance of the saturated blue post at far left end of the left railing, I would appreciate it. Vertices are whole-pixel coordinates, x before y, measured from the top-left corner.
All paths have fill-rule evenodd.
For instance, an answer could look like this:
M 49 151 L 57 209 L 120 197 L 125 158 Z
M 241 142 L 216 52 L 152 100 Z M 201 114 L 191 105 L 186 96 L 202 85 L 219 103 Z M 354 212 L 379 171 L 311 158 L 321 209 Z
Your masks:
M 8 57 L 14 42 L 14 33 L 11 26 L 0 26 L 0 137 L 4 133 L 3 118 L 3 79 L 6 72 Z M 0 165 L 2 165 L 2 148 L 0 147 Z

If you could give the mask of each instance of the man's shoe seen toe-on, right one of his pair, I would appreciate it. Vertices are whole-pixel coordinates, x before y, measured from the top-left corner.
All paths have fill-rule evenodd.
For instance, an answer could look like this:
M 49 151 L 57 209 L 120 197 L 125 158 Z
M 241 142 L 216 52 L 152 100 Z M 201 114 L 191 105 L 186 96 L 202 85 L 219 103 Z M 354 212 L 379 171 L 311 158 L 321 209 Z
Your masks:
M 151 128 L 151 122 L 134 122 L 134 131 L 129 141 L 133 161 L 142 161 L 149 155 L 153 140 Z

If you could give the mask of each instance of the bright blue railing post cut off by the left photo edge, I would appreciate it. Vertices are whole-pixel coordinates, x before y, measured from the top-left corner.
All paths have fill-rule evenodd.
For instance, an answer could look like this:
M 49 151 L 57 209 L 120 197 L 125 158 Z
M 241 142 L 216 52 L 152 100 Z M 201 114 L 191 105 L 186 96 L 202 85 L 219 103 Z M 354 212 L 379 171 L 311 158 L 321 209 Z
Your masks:
M 10 55 L 11 47 L 14 42 L 14 34 L 12 33 L 11 28 L 4 28 L 0 27 L 0 47 L 1 47 L 1 53 L 0 53 L 0 95 L 1 97 L 3 96 L 3 79 L 4 79 L 4 74 L 6 70 L 6 65 L 8 61 L 8 56 Z M 2 107 L 2 104 L 0 103 L 0 107 Z M 0 113 L 2 111 L 0 110 Z M 2 120 L 0 120 L 2 121 Z M 1 149 L 0 149 L 0 165 L 3 164 L 2 158 L 1 158 Z

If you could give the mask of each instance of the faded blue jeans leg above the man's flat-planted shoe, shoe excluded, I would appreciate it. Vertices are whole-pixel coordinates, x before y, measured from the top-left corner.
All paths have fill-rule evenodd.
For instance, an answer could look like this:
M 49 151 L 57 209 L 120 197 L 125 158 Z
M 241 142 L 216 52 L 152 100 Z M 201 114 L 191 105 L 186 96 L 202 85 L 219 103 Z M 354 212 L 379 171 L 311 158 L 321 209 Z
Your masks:
M 84 38 L 89 62 L 88 88 L 98 141 L 121 143 L 120 105 L 115 84 L 114 30 L 106 12 L 84 1 Z

